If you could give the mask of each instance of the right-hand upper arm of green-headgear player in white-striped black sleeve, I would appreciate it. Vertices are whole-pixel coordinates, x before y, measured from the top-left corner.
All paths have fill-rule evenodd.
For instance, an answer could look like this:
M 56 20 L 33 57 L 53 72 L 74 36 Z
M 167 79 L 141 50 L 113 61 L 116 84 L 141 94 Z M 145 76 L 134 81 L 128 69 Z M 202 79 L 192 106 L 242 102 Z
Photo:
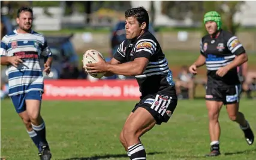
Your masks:
M 230 39 L 228 39 L 227 47 L 228 50 L 230 50 L 231 53 L 235 55 L 245 53 L 245 48 L 243 48 L 243 45 L 240 43 L 236 36 L 232 36 Z

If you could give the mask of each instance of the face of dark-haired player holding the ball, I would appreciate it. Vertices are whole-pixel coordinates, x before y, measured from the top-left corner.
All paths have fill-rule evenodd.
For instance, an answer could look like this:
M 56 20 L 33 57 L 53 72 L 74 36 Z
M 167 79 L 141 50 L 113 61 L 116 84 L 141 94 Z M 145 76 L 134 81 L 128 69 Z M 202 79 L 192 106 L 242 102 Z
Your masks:
M 128 17 L 125 20 L 125 35 L 127 39 L 133 39 L 140 35 L 141 31 L 146 27 L 146 23 L 141 25 L 135 17 Z

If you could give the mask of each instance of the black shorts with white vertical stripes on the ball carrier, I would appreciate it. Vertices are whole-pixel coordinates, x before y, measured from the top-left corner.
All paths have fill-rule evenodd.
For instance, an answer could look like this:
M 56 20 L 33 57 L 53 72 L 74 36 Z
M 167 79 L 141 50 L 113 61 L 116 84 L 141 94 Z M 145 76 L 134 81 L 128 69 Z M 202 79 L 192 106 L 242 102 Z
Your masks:
M 177 99 L 172 99 L 164 94 L 149 94 L 141 99 L 134 107 L 134 112 L 138 107 L 143 107 L 155 118 L 156 124 L 168 122 L 177 106 Z

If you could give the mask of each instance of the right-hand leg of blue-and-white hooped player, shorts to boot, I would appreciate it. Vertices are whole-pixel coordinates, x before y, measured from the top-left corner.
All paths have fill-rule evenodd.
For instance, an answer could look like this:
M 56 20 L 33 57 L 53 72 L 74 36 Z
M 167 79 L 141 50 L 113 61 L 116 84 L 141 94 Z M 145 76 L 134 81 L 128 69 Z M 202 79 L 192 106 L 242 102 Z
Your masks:
M 40 146 L 43 149 L 40 156 L 42 159 L 50 159 L 52 155 L 50 153 L 49 144 L 46 140 L 46 125 L 40 115 L 41 96 L 41 91 L 30 91 L 29 93 L 26 93 L 26 110 L 29 118 L 31 119 L 33 130 L 40 137 Z

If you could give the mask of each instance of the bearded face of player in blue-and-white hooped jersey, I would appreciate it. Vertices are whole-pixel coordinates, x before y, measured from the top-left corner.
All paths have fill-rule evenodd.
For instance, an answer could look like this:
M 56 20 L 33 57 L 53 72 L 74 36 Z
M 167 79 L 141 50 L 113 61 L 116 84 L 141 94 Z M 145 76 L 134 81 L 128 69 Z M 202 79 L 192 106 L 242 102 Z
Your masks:
M 32 14 L 28 11 L 23 11 L 20 13 L 20 17 L 16 19 L 17 23 L 19 24 L 20 29 L 28 32 L 31 30 L 33 17 Z

